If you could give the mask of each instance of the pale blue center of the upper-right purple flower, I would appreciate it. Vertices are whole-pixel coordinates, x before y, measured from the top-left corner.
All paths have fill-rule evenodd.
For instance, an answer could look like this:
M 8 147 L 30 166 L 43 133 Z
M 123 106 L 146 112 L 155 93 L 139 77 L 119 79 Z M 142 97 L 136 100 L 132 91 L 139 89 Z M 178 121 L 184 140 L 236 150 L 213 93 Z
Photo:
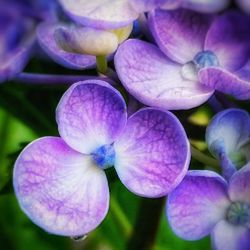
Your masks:
M 219 66 L 219 60 L 217 56 L 209 50 L 199 52 L 193 59 L 193 62 L 196 65 L 197 70 Z

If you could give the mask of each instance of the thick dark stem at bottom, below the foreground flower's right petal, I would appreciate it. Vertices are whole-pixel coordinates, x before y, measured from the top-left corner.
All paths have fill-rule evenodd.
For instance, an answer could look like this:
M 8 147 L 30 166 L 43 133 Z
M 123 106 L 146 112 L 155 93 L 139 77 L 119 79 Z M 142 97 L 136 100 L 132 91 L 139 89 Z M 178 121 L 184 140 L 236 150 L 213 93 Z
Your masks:
M 164 203 L 165 198 L 142 198 L 133 234 L 127 243 L 127 249 L 154 249 Z

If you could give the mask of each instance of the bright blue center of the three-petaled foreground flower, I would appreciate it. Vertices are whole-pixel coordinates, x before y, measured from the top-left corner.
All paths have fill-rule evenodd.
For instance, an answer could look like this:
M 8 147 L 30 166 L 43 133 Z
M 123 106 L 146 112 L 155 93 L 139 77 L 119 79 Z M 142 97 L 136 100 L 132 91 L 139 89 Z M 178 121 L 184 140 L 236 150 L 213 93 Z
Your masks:
M 103 145 L 97 148 L 92 154 L 95 164 L 101 169 L 106 169 L 115 164 L 115 150 L 113 144 Z

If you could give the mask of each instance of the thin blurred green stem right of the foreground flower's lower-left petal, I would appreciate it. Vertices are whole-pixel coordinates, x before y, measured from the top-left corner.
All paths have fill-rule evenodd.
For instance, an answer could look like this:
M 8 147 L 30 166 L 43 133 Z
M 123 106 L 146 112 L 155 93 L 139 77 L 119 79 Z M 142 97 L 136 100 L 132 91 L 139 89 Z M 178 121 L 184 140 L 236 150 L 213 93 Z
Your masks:
M 123 213 L 119 203 L 112 196 L 110 197 L 110 211 L 121 227 L 121 230 L 123 231 L 125 237 L 129 237 L 129 235 L 131 235 L 132 233 L 132 226 L 128 221 L 126 215 Z

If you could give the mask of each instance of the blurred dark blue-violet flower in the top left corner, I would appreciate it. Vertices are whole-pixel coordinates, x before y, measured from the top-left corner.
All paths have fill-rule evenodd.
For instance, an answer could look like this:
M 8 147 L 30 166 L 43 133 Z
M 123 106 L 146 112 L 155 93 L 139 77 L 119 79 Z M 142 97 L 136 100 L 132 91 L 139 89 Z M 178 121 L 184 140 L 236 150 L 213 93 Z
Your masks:
M 35 42 L 35 22 L 25 15 L 22 3 L 0 2 L 0 83 L 15 77 L 26 66 Z

